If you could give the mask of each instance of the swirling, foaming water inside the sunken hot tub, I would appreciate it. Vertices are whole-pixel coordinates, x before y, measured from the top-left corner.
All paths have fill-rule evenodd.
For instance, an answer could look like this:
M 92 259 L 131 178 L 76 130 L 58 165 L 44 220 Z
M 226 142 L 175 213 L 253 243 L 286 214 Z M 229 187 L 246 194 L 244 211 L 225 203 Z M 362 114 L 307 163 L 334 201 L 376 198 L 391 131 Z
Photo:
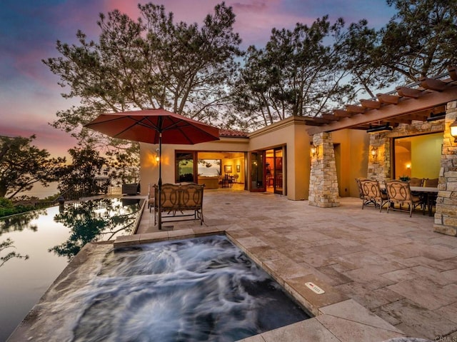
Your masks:
M 61 299 L 74 341 L 237 341 L 309 318 L 224 236 L 114 251 Z

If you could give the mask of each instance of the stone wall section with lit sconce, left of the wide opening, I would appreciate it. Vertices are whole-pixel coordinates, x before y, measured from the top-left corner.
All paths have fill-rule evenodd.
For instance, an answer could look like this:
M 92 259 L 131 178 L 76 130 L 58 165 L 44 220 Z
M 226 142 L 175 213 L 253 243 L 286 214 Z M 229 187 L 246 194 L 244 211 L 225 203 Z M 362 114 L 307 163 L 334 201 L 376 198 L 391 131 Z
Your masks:
M 376 149 L 377 155 L 371 155 L 371 149 Z M 368 179 L 386 181 L 391 178 L 391 139 L 385 133 L 370 134 L 368 146 Z

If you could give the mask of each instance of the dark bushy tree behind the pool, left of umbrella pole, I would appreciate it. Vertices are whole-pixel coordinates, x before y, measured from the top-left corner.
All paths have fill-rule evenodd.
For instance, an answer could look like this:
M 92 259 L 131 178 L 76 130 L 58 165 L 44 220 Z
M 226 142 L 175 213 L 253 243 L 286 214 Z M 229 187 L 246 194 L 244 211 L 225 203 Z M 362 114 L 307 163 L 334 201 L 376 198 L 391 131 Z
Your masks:
M 101 193 L 104 186 L 96 183 L 96 176 L 100 176 L 106 166 L 106 159 L 99 152 L 89 146 L 69 149 L 71 164 L 59 171 L 59 191 L 64 197 L 89 196 Z

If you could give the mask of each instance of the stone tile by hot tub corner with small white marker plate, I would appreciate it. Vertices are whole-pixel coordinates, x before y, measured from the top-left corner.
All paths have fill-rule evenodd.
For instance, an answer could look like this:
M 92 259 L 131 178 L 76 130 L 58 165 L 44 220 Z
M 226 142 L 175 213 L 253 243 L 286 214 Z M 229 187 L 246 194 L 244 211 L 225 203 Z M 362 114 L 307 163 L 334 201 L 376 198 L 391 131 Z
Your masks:
M 305 285 L 307 282 L 311 282 L 320 287 L 325 293 L 318 294 L 311 291 L 311 289 Z M 348 297 L 336 291 L 333 286 L 324 283 L 313 274 L 288 278 L 284 283 L 284 288 L 288 293 L 292 293 L 293 297 L 315 316 L 318 315 L 318 310 L 323 306 L 339 303 L 348 299 Z

